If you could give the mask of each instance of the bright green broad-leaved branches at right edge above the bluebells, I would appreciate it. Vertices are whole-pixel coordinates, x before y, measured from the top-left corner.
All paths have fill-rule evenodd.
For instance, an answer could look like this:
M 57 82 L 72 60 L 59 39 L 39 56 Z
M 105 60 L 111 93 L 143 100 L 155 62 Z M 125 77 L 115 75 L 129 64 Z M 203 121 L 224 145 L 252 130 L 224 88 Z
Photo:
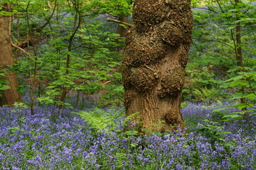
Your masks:
M 241 71 L 243 70 L 243 71 Z M 246 71 L 245 71 L 246 70 Z M 229 88 L 233 91 L 233 100 L 244 99 L 245 103 L 235 103 L 233 106 L 227 106 L 225 108 L 215 110 L 216 113 L 227 108 L 238 108 L 240 111 L 233 112 L 228 115 L 223 115 L 223 121 L 240 120 L 245 119 L 248 123 L 251 123 L 250 118 L 255 115 L 255 102 L 256 102 L 256 72 L 255 69 L 249 67 L 235 67 L 230 69 L 230 74 L 233 74 L 230 79 L 226 80 L 222 84 L 223 88 Z M 242 91 L 242 89 L 245 91 Z M 254 124 L 252 124 L 254 125 Z

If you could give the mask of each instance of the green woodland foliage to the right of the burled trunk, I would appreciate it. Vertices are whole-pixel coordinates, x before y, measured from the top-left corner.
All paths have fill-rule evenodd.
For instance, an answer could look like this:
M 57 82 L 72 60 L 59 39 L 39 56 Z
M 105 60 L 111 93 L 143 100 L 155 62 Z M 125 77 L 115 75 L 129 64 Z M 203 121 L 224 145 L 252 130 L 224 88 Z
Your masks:
M 253 57 L 256 47 L 253 35 L 256 24 L 255 5 L 242 2 L 235 5 L 233 1 L 192 1 L 192 3 L 195 3 L 193 4 L 195 6 L 207 3 L 210 10 L 193 9 L 193 45 L 186 67 L 188 79 L 184 86 L 183 98 L 186 101 L 203 102 L 226 100 L 236 91 L 227 90 L 224 86 L 225 80 L 231 80 L 232 77 L 240 79 L 237 75 L 228 72 L 236 68 L 235 56 L 238 47 L 242 47 L 245 67 L 255 66 Z M 240 23 L 242 28 L 240 45 L 235 42 L 237 23 Z M 241 82 L 240 86 L 242 86 Z M 250 91 L 250 87 L 246 88 Z M 252 94 L 250 96 L 252 97 Z

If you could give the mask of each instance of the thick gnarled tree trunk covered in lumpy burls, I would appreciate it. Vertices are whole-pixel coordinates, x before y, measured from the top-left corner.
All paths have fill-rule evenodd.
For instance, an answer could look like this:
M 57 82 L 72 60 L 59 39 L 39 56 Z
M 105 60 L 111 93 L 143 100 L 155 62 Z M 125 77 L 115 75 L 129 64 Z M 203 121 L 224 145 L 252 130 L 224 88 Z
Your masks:
M 136 0 L 122 63 L 126 115 L 140 113 L 139 128 L 184 128 L 183 88 L 191 46 L 189 0 Z M 163 122 L 163 125 L 152 125 Z

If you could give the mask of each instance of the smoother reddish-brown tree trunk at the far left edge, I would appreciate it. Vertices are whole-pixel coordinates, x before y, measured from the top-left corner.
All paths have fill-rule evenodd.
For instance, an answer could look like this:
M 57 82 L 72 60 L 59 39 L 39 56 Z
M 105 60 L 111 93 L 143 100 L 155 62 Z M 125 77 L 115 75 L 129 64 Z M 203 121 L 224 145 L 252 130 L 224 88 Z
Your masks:
M 8 6 L 4 6 L 4 10 L 8 10 Z M 14 64 L 14 59 L 11 50 L 10 37 L 10 16 L 0 16 L 0 69 L 7 69 L 9 65 Z M 21 95 L 17 91 L 18 80 L 16 73 L 9 72 L 5 79 L 9 81 L 10 89 L 0 91 L 0 106 L 13 106 L 15 102 L 22 102 Z

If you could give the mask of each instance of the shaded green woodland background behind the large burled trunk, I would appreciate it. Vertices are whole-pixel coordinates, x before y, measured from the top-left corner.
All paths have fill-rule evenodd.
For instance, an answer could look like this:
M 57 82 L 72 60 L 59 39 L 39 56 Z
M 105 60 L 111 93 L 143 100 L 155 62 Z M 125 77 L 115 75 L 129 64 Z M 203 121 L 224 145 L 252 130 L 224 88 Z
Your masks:
M 240 107 L 250 107 L 255 102 L 255 3 L 192 4 L 193 45 L 183 101 L 238 99 L 245 103 Z M 16 64 L 11 69 L 31 111 L 34 104 L 122 106 L 127 26 L 107 18 L 131 23 L 131 13 L 132 1 L 122 0 L 11 2 L 11 13 L 5 13 L 12 16 Z M 8 88 L 8 82 L 0 84 L 0 90 Z

